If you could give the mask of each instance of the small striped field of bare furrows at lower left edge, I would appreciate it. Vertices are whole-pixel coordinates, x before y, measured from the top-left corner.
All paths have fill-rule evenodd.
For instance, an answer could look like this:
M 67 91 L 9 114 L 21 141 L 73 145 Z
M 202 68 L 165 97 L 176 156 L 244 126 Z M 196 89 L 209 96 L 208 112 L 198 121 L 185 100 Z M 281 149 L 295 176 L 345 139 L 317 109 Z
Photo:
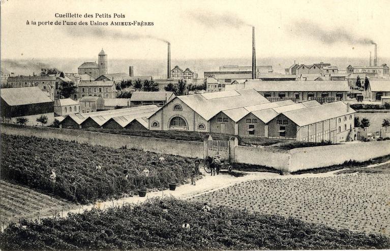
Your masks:
M 0 215 L 1 224 L 18 222 L 19 218 L 36 218 L 37 216 L 54 215 L 61 210 L 70 210 L 76 206 L 62 200 L 49 197 L 32 189 L 0 181 Z

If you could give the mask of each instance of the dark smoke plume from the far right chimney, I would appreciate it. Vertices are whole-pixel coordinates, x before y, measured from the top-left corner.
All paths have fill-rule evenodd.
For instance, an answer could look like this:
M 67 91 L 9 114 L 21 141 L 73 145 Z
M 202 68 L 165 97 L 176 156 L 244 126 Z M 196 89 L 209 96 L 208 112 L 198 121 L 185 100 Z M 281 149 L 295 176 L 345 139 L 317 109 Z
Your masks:
M 313 23 L 312 20 L 303 20 L 293 23 L 290 32 L 293 32 L 297 36 L 319 40 L 325 44 L 334 44 L 337 42 L 362 45 L 375 44 L 370 38 L 355 35 L 341 27 L 325 29 L 323 26 Z

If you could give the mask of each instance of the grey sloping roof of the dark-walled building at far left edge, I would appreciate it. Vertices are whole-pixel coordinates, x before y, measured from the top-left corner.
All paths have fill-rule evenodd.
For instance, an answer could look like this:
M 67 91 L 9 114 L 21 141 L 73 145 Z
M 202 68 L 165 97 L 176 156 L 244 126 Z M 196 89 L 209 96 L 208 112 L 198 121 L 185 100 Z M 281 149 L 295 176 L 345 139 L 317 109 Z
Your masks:
M 2 88 L 0 95 L 8 105 L 53 102 L 38 87 Z

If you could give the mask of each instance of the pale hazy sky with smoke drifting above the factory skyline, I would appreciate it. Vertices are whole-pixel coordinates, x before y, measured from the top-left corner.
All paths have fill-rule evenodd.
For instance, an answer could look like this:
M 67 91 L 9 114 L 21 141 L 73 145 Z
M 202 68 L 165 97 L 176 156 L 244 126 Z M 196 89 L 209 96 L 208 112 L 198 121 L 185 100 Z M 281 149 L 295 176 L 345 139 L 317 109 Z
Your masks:
M 1 0 L 2 59 L 390 57 L 389 1 L 16 1 Z M 55 13 L 126 18 L 55 18 Z M 146 21 L 153 26 L 35 26 L 26 21 Z M 102 32 L 100 34 L 100 32 Z M 371 41 L 372 40 L 372 41 Z

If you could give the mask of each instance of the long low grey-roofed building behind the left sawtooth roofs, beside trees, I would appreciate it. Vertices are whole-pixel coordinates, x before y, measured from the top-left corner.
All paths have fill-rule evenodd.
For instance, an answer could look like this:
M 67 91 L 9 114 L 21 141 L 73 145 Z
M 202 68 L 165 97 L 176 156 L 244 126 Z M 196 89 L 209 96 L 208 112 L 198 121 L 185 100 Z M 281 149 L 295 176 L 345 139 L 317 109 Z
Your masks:
M 130 98 L 130 107 L 155 104 L 164 106 L 176 97 L 173 92 L 133 92 Z

